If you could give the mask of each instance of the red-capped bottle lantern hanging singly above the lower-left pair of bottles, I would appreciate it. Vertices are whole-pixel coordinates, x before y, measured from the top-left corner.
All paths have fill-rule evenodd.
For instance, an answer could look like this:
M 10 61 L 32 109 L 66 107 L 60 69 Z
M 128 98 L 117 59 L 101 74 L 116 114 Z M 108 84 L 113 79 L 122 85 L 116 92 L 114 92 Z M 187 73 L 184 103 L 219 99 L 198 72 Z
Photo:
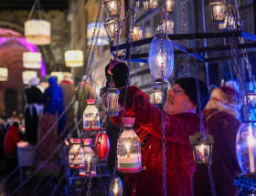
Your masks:
M 83 112 L 83 129 L 100 130 L 100 113 L 95 106 L 95 99 L 87 99 L 87 107 Z

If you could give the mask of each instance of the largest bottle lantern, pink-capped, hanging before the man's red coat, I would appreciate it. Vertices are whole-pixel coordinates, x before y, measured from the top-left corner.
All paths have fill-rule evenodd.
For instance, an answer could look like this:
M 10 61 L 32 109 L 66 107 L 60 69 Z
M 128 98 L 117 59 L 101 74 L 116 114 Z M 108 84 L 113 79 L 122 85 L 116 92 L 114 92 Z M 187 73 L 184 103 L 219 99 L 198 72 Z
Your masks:
M 117 141 L 117 170 L 125 173 L 142 170 L 140 139 L 133 130 L 133 118 L 123 118 L 123 133 Z

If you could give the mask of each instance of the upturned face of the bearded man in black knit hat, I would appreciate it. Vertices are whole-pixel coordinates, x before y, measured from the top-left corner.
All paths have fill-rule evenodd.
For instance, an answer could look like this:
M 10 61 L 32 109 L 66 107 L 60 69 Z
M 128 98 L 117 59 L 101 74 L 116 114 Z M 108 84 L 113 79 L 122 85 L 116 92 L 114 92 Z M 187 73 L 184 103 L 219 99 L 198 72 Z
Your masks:
M 183 112 L 196 113 L 197 107 L 190 98 L 188 98 L 184 89 L 176 84 L 167 92 L 164 109 L 166 114 L 173 115 Z

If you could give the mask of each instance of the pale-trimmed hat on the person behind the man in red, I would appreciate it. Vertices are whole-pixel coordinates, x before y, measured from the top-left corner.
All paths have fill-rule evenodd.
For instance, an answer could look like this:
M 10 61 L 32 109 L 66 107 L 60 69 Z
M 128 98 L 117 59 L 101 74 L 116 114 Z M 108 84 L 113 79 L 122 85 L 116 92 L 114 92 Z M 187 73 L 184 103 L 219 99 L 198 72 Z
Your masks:
M 242 102 L 240 94 L 230 87 L 213 89 L 210 98 L 214 98 L 230 108 L 240 108 Z

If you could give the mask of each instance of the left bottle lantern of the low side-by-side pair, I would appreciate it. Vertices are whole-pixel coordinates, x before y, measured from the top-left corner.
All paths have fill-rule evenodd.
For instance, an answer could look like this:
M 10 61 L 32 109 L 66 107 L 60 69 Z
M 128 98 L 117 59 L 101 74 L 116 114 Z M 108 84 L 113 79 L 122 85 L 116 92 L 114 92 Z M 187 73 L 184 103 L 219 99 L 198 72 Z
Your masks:
M 80 139 L 70 139 L 69 168 L 84 168 L 84 150 L 80 146 Z

